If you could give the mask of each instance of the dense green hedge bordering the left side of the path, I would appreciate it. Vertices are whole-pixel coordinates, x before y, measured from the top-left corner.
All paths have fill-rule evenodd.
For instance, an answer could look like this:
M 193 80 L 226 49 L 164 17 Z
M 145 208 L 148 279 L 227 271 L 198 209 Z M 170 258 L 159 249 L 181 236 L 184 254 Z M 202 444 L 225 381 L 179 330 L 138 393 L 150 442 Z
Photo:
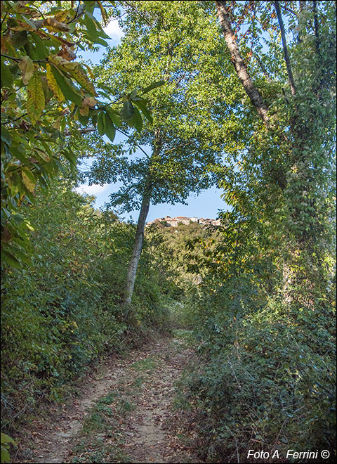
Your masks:
M 166 318 L 165 270 L 155 269 L 155 250 L 145 243 L 126 320 L 121 299 L 135 226 L 95 211 L 92 198 L 70 187 L 56 182 L 22 207 L 35 229 L 32 259 L 23 269 L 2 269 L 4 425 L 41 397 L 60 399 L 96 356 Z

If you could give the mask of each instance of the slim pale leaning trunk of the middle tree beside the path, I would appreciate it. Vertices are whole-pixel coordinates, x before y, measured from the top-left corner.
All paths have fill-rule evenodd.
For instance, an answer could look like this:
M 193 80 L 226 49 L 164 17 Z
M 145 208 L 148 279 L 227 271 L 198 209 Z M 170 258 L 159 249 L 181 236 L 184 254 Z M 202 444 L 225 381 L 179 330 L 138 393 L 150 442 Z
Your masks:
M 140 213 L 137 223 L 137 231 L 135 237 L 135 245 L 133 246 L 132 257 L 128 264 L 128 276 L 126 278 L 126 293 L 124 299 L 124 305 L 131 303 L 131 298 L 133 294 L 133 287 L 135 286 L 136 273 L 138 268 L 138 263 L 140 259 L 140 253 L 142 252 L 143 240 L 144 240 L 144 231 L 147 213 L 150 208 L 150 200 L 152 194 L 152 186 L 148 185 L 145 187 L 145 193 L 143 196 L 142 205 L 140 207 Z

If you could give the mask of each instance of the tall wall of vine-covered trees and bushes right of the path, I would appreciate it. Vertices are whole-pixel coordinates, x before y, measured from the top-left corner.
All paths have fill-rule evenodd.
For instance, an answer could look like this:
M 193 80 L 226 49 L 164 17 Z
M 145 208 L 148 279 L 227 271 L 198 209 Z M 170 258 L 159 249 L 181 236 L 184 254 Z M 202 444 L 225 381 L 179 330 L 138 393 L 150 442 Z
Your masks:
M 298 11 L 293 3 L 290 11 L 278 2 L 293 30 L 291 93 L 282 46 L 272 37 L 279 30 L 273 2 L 227 3 L 217 2 L 230 8 L 240 53 L 270 120 L 260 124 L 251 101 L 242 102 L 250 124 L 246 150 L 220 181 L 232 212 L 223 214 L 213 248 L 194 244 L 203 250 L 203 256 L 194 253 L 194 271 L 202 269 L 204 278 L 189 309 L 204 366 L 190 378 L 191 403 L 212 462 L 237 462 L 262 446 L 282 454 L 295 444 L 329 449 L 332 456 L 334 6 L 314 2 Z M 246 20 L 251 27 L 244 32 Z M 270 56 L 261 52 L 263 30 Z

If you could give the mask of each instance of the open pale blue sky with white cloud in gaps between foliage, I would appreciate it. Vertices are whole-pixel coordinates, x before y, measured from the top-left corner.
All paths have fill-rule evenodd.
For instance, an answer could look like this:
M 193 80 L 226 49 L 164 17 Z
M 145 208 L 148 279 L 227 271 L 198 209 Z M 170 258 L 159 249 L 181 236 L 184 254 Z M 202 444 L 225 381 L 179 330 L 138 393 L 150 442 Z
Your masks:
M 97 15 L 96 15 L 97 16 Z M 117 45 L 119 40 L 123 36 L 123 32 L 119 28 L 117 20 L 112 20 L 107 27 L 104 28 L 105 32 L 111 37 L 111 40 L 107 42 L 111 45 Z M 100 46 L 99 51 L 96 52 L 82 52 L 81 56 L 84 60 L 91 60 L 93 64 L 100 62 L 103 57 L 104 47 Z M 90 162 L 86 162 L 86 166 L 90 165 Z M 81 167 L 80 167 L 81 169 Z M 99 208 L 103 207 L 105 202 L 109 200 L 110 193 L 116 192 L 121 186 L 120 183 L 105 184 L 104 186 L 83 184 L 79 186 L 76 191 L 79 193 L 87 193 L 89 195 L 95 195 L 94 206 Z M 187 198 L 188 205 L 176 203 L 176 205 L 169 205 L 168 203 L 161 203 L 159 205 L 151 205 L 150 211 L 147 217 L 147 221 L 152 221 L 158 217 L 165 216 L 187 216 L 187 217 L 204 217 L 216 219 L 218 212 L 228 210 L 228 206 L 224 200 L 220 197 L 222 191 L 218 188 L 209 188 L 208 190 L 199 193 L 199 195 L 190 195 Z M 133 211 L 129 214 L 122 215 L 124 219 L 137 221 L 138 211 Z

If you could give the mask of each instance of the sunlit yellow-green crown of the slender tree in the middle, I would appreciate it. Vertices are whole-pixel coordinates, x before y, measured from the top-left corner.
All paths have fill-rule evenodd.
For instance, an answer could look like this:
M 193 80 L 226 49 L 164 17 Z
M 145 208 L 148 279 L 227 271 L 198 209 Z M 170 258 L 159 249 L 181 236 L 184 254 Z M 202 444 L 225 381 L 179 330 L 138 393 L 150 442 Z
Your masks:
M 132 103 L 124 102 L 124 119 L 138 129 L 125 143 L 98 149 L 97 141 L 89 141 L 95 161 L 87 175 L 91 183 L 119 179 L 123 186 L 111 195 L 110 205 L 131 211 L 140 207 L 145 191 L 151 204 L 174 204 L 216 183 L 209 167 L 220 161 L 224 147 L 236 149 L 237 120 L 228 122 L 231 131 L 222 124 L 235 106 L 237 86 L 214 41 L 216 18 L 205 16 L 201 4 L 136 1 L 124 8 L 124 38 L 108 49 L 96 72 L 114 94 L 123 96 L 136 83 L 143 94 L 151 92 L 146 100 L 138 92 Z M 148 85 L 154 79 L 161 81 Z M 144 112 L 147 101 L 151 117 Z M 138 110 L 144 112 L 143 124 Z

